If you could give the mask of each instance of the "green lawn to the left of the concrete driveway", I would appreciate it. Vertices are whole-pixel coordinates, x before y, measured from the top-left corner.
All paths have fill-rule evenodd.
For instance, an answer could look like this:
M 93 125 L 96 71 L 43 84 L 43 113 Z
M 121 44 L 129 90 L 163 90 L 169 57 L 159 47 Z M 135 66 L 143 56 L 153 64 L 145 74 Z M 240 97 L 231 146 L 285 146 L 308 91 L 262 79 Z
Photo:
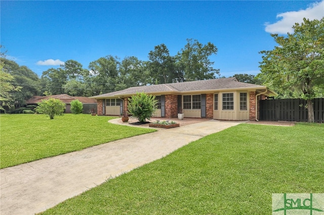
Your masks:
M 113 117 L 65 114 L 50 120 L 45 115 L 0 116 L 0 168 L 51 157 L 90 146 L 153 132 L 114 125 Z

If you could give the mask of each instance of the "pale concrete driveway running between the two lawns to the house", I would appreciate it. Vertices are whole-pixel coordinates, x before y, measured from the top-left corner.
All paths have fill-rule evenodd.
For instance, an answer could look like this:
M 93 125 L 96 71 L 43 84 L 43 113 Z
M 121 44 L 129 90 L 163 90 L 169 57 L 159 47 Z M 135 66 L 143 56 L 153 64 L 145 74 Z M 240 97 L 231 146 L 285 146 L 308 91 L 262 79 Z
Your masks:
M 119 123 L 114 119 L 111 123 Z M 34 214 L 107 179 L 243 122 L 210 120 L 117 140 L 0 170 L 0 214 Z

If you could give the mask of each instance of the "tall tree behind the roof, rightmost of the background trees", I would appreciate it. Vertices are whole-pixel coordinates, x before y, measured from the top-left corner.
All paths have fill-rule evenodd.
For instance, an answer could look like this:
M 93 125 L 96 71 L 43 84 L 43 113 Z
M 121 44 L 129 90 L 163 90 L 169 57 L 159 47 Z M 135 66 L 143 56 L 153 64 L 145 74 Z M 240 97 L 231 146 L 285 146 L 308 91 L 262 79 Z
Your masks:
M 217 47 L 208 42 L 201 44 L 196 39 L 187 39 L 187 44 L 178 52 L 178 68 L 183 70 L 184 78 L 188 81 L 213 79 L 219 73 L 219 69 L 214 69 L 209 58 L 217 54 Z M 180 71 L 181 71 L 180 70 Z

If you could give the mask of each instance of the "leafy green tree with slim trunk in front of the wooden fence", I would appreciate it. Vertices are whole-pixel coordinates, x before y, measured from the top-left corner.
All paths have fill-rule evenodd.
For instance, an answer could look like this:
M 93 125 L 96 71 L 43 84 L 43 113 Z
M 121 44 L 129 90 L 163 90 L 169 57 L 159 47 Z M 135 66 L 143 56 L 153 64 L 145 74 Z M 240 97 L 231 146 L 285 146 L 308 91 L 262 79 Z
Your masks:
M 307 100 L 308 122 L 314 122 L 314 89 L 324 87 L 324 18 L 304 18 L 293 29 L 294 33 L 287 36 L 271 34 L 278 45 L 273 50 L 260 51 L 263 61 L 258 76 L 279 93 L 299 87 L 300 98 Z

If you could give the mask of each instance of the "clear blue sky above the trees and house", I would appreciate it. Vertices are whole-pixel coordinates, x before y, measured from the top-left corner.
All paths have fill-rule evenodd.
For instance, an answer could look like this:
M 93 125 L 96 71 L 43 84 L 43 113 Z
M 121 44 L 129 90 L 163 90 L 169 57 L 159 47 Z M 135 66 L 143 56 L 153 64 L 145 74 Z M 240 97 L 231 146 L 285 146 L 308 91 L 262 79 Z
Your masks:
M 60 63 L 107 55 L 148 60 L 164 43 L 174 56 L 187 38 L 218 47 L 221 76 L 259 73 L 270 33 L 291 32 L 303 17 L 324 16 L 324 1 L 1 1 L 1 44 L 8 59 L 39 76 Z M 2 49 L 4 51 L 5 49 Z

